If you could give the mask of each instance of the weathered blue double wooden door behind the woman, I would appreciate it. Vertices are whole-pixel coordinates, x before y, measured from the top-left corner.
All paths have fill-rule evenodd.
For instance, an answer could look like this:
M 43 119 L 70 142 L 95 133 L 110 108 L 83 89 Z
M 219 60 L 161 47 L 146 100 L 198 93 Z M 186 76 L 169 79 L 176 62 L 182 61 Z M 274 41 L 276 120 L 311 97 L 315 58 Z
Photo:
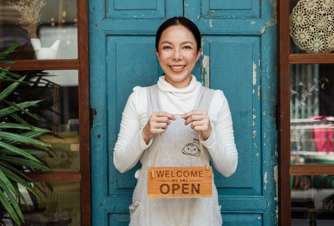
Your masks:
M 229 100 L 239 152 L 237 172 L 215 173 L 224 225 L 277 224 L 275 1 L 90 0 L 92 224 L 128 225 L 134 172 L 113 166 L 122 111 L 132 88 L 163 74 L 155 32 L 186 16 L 202 33 L 198 80 Z

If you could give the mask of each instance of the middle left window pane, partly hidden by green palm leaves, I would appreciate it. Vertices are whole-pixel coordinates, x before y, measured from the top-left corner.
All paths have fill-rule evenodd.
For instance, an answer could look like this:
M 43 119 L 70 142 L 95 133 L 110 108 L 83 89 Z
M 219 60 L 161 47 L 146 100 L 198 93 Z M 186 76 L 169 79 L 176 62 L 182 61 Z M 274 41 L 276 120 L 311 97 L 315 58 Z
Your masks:
M 19 85 L 10 100 L 18 103 L 43 99 L 28 108 L 39 120 L 26 114 L 20 115 L 29 124 L 51 131 L 40 137 L 42 141 L 52 145 L 51 149 L 44 148 L 50 156 L 40 158 L 54 170 L 79 170 L 78 71 L 17 73 L 27 74 L 26 80 L 32 83 Z

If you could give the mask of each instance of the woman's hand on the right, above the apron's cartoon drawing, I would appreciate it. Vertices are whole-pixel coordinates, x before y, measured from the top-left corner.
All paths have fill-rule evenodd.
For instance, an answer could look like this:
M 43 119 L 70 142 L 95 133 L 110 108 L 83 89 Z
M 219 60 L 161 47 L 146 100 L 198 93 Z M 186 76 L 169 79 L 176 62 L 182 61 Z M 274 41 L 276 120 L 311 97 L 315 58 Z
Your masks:
M 207 140 L 212 132 L 212 127 L 210 124 L 210 117 L 204 110 L 192 110 L 181 117 L 186 120 L 185 125 L 191 123 L 191 128 L 194 131 L 201 131 L 201 137 Z

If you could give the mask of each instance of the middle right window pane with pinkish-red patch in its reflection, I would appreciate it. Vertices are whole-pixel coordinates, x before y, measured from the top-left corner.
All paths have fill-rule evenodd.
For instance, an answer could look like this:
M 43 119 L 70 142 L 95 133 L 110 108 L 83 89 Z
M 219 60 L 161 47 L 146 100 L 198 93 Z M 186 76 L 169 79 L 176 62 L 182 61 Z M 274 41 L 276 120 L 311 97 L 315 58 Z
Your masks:
M 291 65 L 291 164 L 334 163 L 334 65 Z

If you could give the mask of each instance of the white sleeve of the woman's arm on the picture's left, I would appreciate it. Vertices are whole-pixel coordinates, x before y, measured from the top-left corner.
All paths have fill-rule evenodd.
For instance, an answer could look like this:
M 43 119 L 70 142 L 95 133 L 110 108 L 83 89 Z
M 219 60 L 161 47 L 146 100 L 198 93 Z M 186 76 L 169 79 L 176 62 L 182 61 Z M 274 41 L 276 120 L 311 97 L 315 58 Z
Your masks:
M 145 89 L 134 87 L 129 96 L 120 124 L 120 131 L 114 148 L 114 166 L 124 173 L 133 168 L 140 159 L 145 149 L 152 143 L 152 139 L 146 145 L 142 138 L 142 127 L 146 115 L 140 113 L 139 106 L 145 104 L 146 98 L 142 98 Z M 147 104 L 145 104 L 147 105 Z

